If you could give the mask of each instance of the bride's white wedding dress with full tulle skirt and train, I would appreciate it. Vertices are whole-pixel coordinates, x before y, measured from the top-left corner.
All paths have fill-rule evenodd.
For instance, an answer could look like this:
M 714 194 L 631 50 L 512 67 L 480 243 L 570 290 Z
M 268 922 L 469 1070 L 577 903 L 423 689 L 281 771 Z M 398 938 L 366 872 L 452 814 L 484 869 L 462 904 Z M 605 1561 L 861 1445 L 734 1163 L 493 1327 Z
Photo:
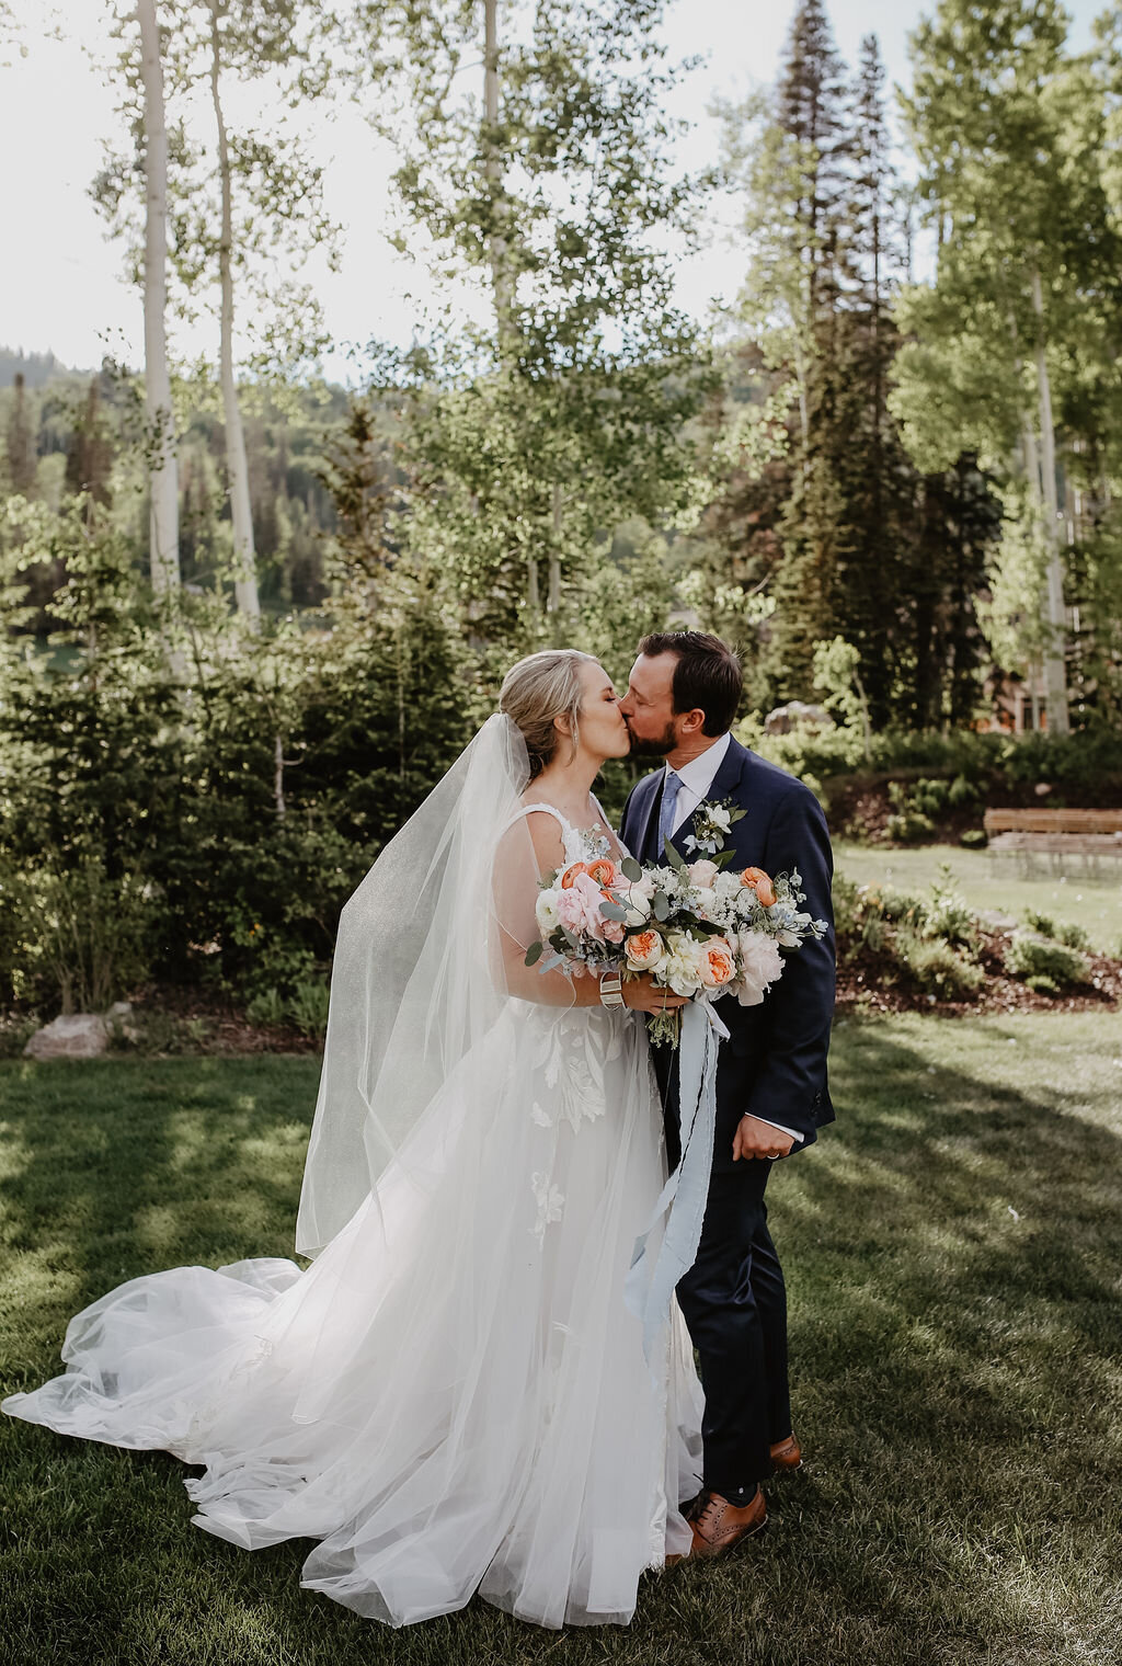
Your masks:
M 678 1309 L 651 1368 L 623 1301 L 664 1180 L 646 1048 L 628 1011 L 509 1000 L 306 1271 L 132 1279 L 5 1411 L 205 1464 L 198 1526 L 318 1539 L 305 1586 L 368 1618 L 479 1591 L 543 1626 L 626 1624 L 641 1573 L 689 1548 L 701 1468 Z

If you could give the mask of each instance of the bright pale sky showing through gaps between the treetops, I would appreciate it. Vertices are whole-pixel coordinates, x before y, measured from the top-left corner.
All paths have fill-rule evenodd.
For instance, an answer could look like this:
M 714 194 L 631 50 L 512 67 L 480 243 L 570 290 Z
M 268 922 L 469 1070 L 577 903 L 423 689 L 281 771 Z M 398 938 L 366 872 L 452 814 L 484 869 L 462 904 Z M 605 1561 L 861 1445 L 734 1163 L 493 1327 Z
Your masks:
M 669 0 L 664 38 L 673 58 L 702 63 L 679 88 L 676 113 L 693 123 L 683 147 L 686 165 L 712 162 L 716 97 L 742 97 L 774 80 L 796 0 Z M 1069 0 L 1072 43 L 1089 40 L 1090 20 L 1105 0 Z M 113 95 L 90 60 L 108 53 L 107 7 L 100 0 L 52 0 L 58 40 L 43 38 L 42 0 L 15 0 L 23 20 L 22 48 L 0 43 L 0 225 L 8 237 L 0 262 L 0 345 L 53 352 L 88 368 L 105 352 L 138 365 L 143 353 L 140 292 L 123 278 L 122 248 L 107 242 L 88 198 L 100 147 L 117 133 Z M 907 33 L 931 0 L 832 0 L 829 13 L 842 58 L 854 65 L 861 37 L 872 32 L 889 82 L 906 85 Z M 393 158 L 371 137 L 356 110 L 345 108 L 315 137 L 326 163 L 328 208 L 345 225 L 338 273 L 310 270 L 326 323 L 338 343 L 330 375 L 355 377 L 348 343 L 371 337 L 406 343 L 433 305 L 423 270 L 396 255 L 385 237 L 386 175 Z M 729 210 L 717 213 L 707 247 L 678 262 L 678 298 L 704 317 L 711 302 L 731 300 L 742 260 Z M 181 337 L 186 353 L 206 352 L 210 332 Z

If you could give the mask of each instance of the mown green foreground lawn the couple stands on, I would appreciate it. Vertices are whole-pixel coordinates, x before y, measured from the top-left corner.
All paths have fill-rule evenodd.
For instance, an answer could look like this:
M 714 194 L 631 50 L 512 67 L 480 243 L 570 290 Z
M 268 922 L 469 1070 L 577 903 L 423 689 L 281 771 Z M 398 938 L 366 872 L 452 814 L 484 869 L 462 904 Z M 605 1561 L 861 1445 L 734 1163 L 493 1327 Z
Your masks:
M 290 1250 L 316 1061 L 0 1066 L 5 1391 L 137 1273 Z M 190 1526 L 183 1468 L 0 1419 L 3 1666 L 1109 1666 L 1122 1658 L 1122 1021 L 849 1020 L 777 1168 L 806 1469 L 628 1631 L 481 1603 L 406 1631 L 306 1544 Z M 393 1369 L 393 1361 L 386 1363 Z

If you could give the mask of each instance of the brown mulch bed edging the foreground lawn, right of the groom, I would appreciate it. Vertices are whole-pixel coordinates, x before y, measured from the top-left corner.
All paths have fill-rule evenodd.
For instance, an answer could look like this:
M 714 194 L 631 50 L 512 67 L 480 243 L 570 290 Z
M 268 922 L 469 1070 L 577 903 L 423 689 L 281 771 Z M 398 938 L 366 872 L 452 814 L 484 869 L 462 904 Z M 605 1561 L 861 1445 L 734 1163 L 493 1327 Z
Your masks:
M 1109 955 L 1087 955 L 1090 983 L 1060 995 L 1042 995 L 1005 971 L 1009 931 L 982 928 L 979 960 L 985 973 L 977 995 L 947 1001 L 931 996 L 909 978 L 907 970 L 887 953 L 859 950 L 837 968 L 839 1013 L 1094 1013 L 1122 1005 L 1122 961 Z M 844 953 L 844 951 L 842 951 Z

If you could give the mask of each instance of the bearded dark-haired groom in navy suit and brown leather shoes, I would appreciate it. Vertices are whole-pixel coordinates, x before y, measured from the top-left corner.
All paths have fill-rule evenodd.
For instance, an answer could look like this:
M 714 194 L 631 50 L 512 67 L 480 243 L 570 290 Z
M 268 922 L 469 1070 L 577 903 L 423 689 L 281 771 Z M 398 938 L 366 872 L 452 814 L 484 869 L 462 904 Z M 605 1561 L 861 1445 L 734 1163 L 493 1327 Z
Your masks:
M 664 758 L 631 793 L 623 841 L 643 861 L 664 861 L 664 841 L 688 860 L 694 815 L 732 803 L 724 848 L 729 871 L 797 868 L 816 920 L 832 920 L 832 856 L 826 818 L 801 781 L 741 746 L 729 728 L 741 700 L 741 666 L 701 631 L 646 636 L 619 711 L 631 755 Z M 834 1011 L 834 935 L 807 938 L 786 956 L 782 978 L 761 1006 L 721 1001 L 731 1036 L 717 1065 L 712 1176 L 694 1266 L 678 1303 L 701 1359 L 702 1491 L 691 1506 L 691 1556 L 717 1556 L 767 1516 L 759 1483 L 802 1461 L 791 1429 L 787 1301 L 767 1231 L 764 1190 L 776 1158 L 811 1145 L 834 1118 L 826 1051 Z M 678 1071 L 664 1048 L 654 1068 L 666 1111 L 671 1168 L 681 1156 Z

